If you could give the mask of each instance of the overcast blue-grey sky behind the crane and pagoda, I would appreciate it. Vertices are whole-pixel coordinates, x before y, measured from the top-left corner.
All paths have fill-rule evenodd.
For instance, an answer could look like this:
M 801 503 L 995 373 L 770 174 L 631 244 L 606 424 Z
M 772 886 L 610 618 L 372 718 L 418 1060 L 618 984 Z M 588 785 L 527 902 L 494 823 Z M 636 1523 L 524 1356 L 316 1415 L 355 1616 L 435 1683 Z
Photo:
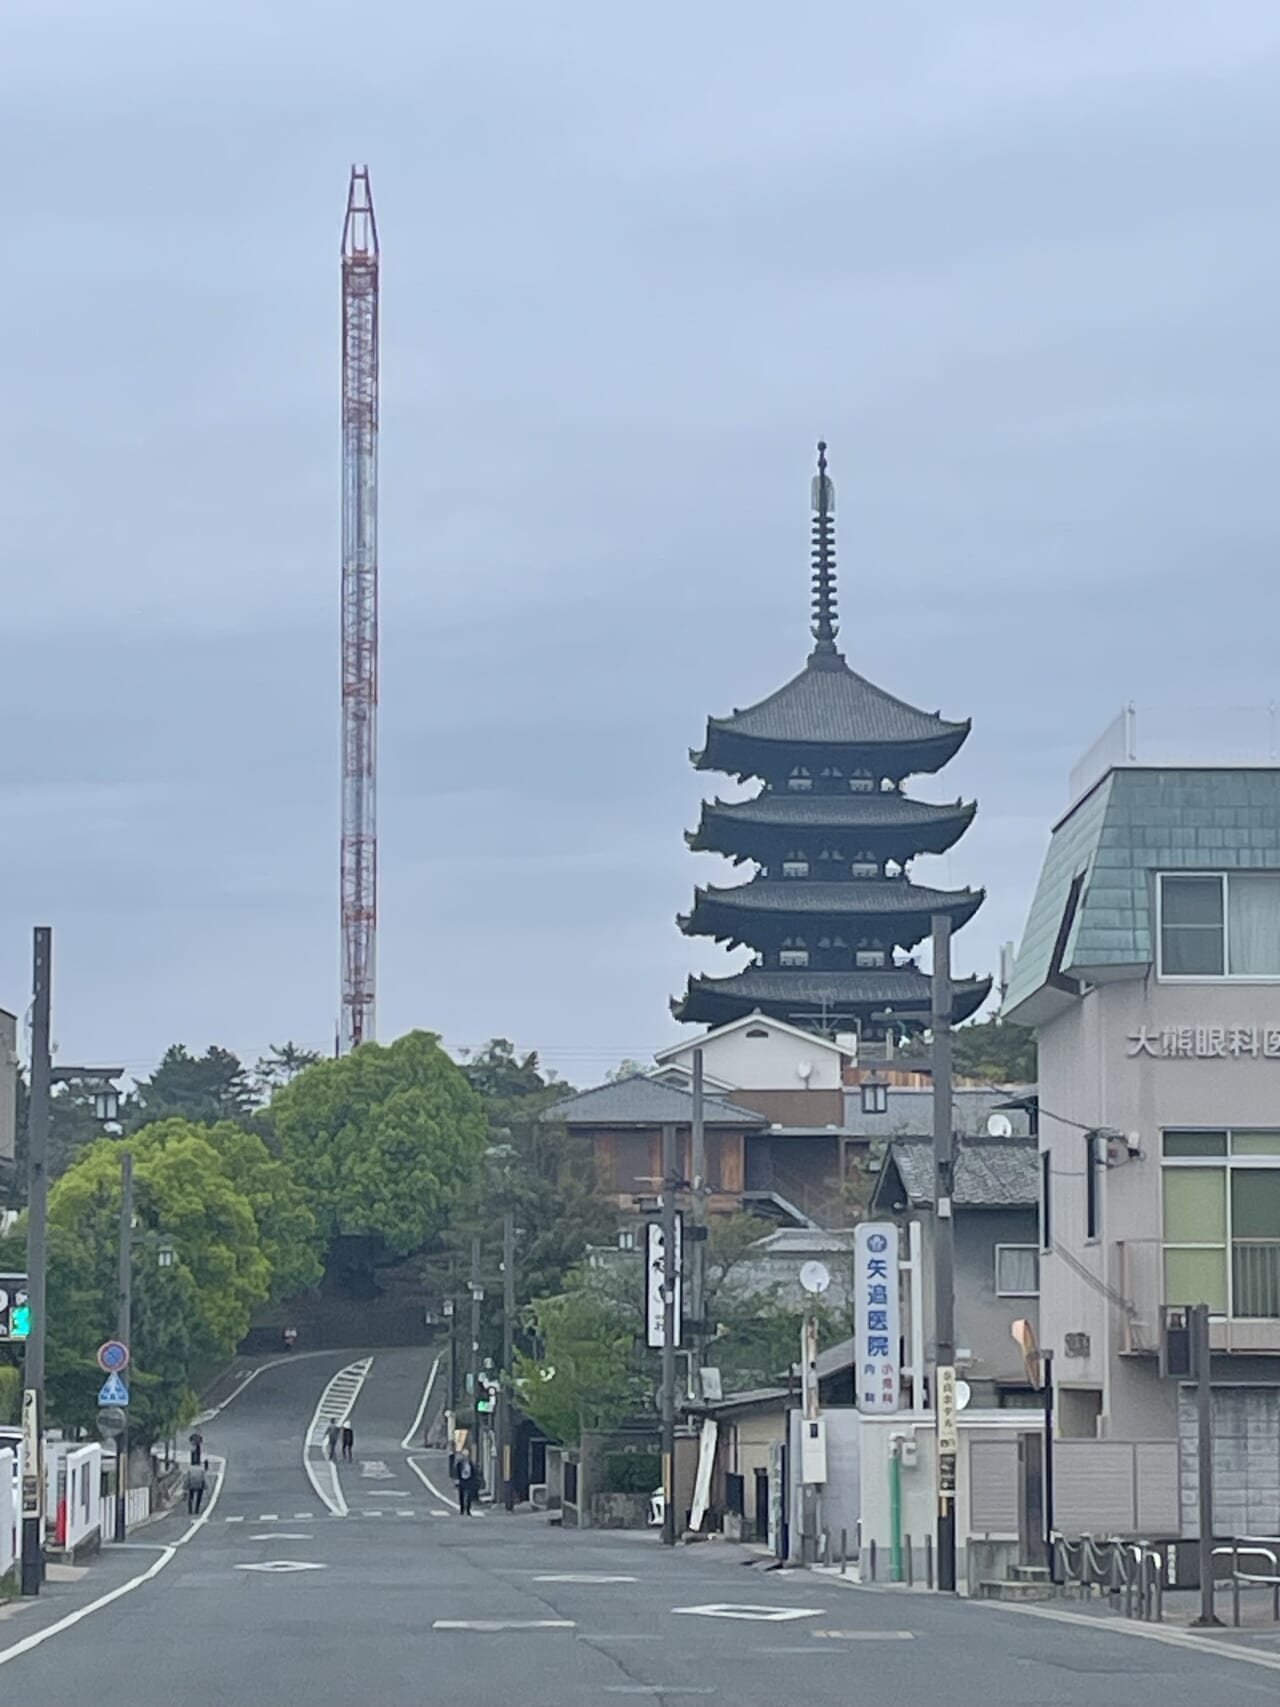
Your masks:
M 0 92 L 0 1005 L 51 923 L 63 1060 L 331 1046 L 352 160 L 382 1038 L 592 1082 L 729 970 L 686 753 L 804 661 L 819 435 L 850 662 L 973 717 L 957 970 L 1125 700 L 1280 693 L 1273 0 L 7 0 Z

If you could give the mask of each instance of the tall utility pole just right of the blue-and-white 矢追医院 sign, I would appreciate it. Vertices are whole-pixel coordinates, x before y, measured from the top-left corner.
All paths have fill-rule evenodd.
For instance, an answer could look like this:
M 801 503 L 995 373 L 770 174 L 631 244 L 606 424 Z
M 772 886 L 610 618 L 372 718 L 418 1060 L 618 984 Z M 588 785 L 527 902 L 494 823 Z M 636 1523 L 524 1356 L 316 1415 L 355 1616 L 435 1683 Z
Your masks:
M 956 1222 L 951 1214 L 951 918 L 934 913 L 934 1417 L 937 1419 L 937 1586 L 956 1593 Z

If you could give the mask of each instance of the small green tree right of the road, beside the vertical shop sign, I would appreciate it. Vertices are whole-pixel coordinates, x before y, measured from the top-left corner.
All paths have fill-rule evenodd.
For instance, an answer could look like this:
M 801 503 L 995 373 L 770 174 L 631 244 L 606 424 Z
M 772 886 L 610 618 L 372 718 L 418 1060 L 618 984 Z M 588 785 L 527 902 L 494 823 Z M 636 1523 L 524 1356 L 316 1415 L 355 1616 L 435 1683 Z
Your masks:
M 521 1410 L 550 1439 L 577 1446 L 584 1429 L 614 1429 L 645 1408 L 654 1386 L 630 1275 L 575 1268 L 563 1292 L 534 1301 L 529 1325 L 539 1355 L 515 1355 Z

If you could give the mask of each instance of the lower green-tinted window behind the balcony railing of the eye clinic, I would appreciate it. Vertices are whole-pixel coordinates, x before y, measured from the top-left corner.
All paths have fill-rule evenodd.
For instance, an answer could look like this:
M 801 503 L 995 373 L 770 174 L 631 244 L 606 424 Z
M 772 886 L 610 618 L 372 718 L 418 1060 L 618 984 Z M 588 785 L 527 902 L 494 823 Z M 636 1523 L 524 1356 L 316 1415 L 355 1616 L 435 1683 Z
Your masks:
M 1164 1302 L 1280 1318 L 1280 1132 L 1164 1133 Z

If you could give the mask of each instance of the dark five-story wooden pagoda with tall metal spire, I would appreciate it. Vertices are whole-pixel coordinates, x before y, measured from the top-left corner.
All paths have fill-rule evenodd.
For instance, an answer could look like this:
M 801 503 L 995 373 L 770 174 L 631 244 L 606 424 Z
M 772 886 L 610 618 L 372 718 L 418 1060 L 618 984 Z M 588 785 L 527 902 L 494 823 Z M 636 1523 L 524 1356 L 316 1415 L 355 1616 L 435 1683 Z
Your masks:
M 785 688 L 707 722 L 698 770 L 756 778 L 748 801 L 703 802 L 686 835 L 695 852 L 754 860 L 756 876 L 695 893 L 679 918 L 691 937 L 748 946 L 756 959 L 729 978 L 689 978 L 678 1019 L 725 1024 L 765 1012 L 823 1031 L 882 1038 L 928 1024 L 930 980 L 911 949 L 934 913 L 964 925 L 981 889 L 928 889 L 908 877 L 920 854 L 945 854 L 976 804 L 934 806 L 903 792 L 906 777 L 940 770 L 969 724 L 949 724 L 876 688 L 836 650 L 835 486 L 826 446 L 812 483 L 812 638 Z M 956 1019 L 985 1000 L 990 978 L 956 983 Z

